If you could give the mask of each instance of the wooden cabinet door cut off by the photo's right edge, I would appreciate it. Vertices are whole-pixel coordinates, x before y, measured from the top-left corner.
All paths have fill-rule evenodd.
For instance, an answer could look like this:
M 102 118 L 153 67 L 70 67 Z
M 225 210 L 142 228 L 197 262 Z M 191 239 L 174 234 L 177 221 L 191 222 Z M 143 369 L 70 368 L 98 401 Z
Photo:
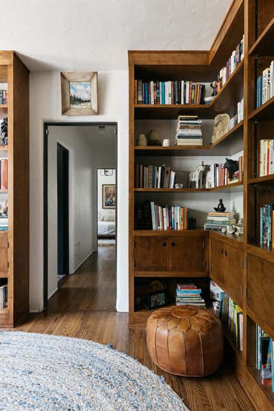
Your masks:
M 247 253 L 247 306 L 274 328 L 274 264 Z

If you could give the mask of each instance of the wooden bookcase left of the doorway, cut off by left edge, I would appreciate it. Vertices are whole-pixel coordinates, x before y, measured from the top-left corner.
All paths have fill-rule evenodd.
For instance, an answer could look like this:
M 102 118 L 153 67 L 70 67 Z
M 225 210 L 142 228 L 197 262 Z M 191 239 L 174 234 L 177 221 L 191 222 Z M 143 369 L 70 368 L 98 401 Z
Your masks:
M 29 71 L 14 51 L 0 51 L 0 83 L 8 86 L 8 103 L 0 105 L 0 119 L 8 117 L 8 230 L 0 232 L 0 284 L 8 284 L 8 307 L 0 310 L 0 328 L 14 327 L 29 313 Z

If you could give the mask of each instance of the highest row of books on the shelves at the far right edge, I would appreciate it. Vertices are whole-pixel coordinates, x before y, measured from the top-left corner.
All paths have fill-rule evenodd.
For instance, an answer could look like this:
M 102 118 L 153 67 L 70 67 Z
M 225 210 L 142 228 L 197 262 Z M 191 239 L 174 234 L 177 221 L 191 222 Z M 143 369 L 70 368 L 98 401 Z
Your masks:
M 256 108 L 274 96 L 274 60 L 257 78 Z

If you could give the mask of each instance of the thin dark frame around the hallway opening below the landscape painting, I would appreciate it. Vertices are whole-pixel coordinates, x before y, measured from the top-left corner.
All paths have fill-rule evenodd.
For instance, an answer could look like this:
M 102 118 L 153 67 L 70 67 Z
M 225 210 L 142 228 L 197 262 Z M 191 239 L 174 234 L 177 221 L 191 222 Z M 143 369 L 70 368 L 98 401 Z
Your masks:
M 48 301 L 48 190 L 47 190 L 47 184 L 48 184 L 48 178 L 47 178 L 47 173 L 48 173 L 48 136 L 49 136 L 49 126 L 54 125 L 54 126 L 99 126 L 99 125 L 105 125 L 105 126 L 114 126 L 116 127 L 116 150 L 115 150 L 115 169 L 117 170 L 117 146 L 118 146 L 118 140 L 117 140 L 117 129 L 118 129 L 118 124 L 116 122 L 108 122 L 108 121 L 101 121 L 101 122 L 84 122 L 81 123 L 79 121 L 77 122 L 69 122 L 69 121 L 46 121 L 44 122 L 44 236 L 43 236 L 43 242 L 44 242 L 44 279 L 43 279 L 43 301 L 44 301 L 44 310 L 47 308 L 47 301 Z M 118 198 L 118 189 L 117 189 L 117 172 L 116 172 L 116 198 Z M 117 204 L 117 202 L 116 202 Z M 117 215 L 117 214 L 116 214 Z M 116 237 L 117 237 L 117 219 L 116 219 Z M 116 247 L 116 256 L 115 256 L 115 267 L 117 264 L 117 247 Z M 117 269 L 117 267 L 116 267 Z

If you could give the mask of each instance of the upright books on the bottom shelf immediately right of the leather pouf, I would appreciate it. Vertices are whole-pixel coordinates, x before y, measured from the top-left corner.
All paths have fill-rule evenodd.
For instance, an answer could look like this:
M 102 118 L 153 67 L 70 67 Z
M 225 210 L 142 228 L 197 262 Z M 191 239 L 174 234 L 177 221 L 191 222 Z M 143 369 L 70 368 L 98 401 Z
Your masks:
M 231 332 L 236 348 L 242 351 L 242 309 L 225 292 L 220 292 L 219 317 Z

